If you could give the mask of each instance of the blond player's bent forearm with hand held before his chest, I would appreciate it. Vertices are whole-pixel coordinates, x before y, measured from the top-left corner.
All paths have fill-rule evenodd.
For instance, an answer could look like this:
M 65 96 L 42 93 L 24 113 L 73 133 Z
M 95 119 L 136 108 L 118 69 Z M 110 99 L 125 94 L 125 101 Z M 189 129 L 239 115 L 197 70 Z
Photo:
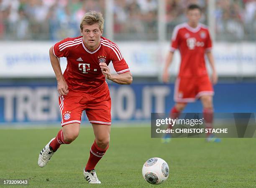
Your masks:
M 100 68 L 104 76 L 118 84 L 131 84 L 133 82 L 133 76 L 130 71 L 122 74 L 111 74 L 110 69 L 106 63 L 100 63 Z

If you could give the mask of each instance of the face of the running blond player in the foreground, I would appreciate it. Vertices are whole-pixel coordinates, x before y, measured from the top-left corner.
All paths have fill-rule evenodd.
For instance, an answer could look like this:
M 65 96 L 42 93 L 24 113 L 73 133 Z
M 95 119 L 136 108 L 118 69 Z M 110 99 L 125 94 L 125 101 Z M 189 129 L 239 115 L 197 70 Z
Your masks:
M 100 36 L 102 36 L 102 31 L 100 30 L 98 23 L 94 23 L 92 25 L 83 25 L 81 34 L 83 36 L 85 46 L 89 50 L 94 51 L 100 45 Z

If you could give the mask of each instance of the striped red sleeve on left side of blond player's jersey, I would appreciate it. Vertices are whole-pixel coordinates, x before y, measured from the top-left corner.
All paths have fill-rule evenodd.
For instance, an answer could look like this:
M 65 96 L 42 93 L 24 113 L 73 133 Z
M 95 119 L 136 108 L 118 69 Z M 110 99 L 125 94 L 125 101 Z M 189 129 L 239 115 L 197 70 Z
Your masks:
M 54 44 L 52 50 L 56 57 L 67 57 L 69 56 L 69 47 L 78 45 L 82 42 L 82 38 L 65 38 L 62 41 Z

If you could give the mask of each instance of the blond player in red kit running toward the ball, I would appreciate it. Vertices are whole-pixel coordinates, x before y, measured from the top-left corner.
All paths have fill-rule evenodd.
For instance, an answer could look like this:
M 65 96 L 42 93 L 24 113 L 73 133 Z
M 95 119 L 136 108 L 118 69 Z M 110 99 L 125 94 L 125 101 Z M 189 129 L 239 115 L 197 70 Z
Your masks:
M 89 183 L 100 183 L 95 166 L 108 150 L 111 125 L 109 79 L 118 84 L 131 84 L 132 75 L 118 46 L 102 37 L 104 18 L 90 11 L 81 20 L 82 36 L 66 38 L 49 50 L 51 66 L 56 75 L 62 129 L 41 150 L 38 165 L 44 167 L 62 144 L 70 144 L 79 135 L 81 114 L 85 110 L 92 124 L 95 140 L 84 168 Z M 59 58 L 67 58 L 61 73 Z M 112 61 L 117 74 L 110 74 Z

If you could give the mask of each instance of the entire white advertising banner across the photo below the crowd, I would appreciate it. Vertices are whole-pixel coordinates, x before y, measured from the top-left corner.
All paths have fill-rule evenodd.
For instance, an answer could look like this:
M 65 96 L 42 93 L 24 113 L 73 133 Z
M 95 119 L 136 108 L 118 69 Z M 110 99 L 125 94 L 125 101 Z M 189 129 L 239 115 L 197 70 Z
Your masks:
M 49 48 L 54 42 L 0 42 L 0 77 L 53 77 Z M 158 76 L 164 66 L 169 43 L 117 42 L 134 76 Z M 256 76 L 255 43 L 215 43 L 216 68 L 220 76 Z M 177 74 L 180 56 L 175 52 L 170 73 Z M 66 58 L 61 58 L 65 70 Z M 113 66 L 111 71 L 114 72 Z

